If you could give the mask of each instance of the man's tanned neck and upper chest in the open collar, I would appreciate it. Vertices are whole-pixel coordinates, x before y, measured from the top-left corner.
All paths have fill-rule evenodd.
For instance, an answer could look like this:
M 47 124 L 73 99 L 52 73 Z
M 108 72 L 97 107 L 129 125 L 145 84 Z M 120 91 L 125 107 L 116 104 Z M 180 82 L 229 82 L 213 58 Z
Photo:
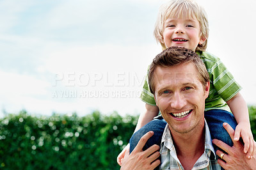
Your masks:
M 180 163 L 184 169 L 192 169 L 196 160 L 204 153 L 205 128 L 196 128 L 186 134 L 171 133 Z

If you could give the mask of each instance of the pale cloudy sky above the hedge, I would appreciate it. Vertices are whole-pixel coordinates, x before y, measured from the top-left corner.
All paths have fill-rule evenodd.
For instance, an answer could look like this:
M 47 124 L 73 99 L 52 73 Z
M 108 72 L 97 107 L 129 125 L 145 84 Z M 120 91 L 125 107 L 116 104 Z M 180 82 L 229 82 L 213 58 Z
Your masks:
M 95 110 L 136 115 L 163 0 L 0 0 L 0 117 Z M 256 104 L 256 1 L 198 0 L 209 19 L 207 51 L 221 58 Z

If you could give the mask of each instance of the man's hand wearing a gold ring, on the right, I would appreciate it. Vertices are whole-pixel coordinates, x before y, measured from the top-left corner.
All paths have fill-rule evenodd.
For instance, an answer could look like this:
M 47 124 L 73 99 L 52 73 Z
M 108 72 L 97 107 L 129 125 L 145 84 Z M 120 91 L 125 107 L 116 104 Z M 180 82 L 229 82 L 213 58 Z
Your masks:
M 216 144 L 223 151 L 217 150 L 216 153 L 220 157 L 218 159 L 218 164 L 224 169 L 256 169 L 256 157 L 255 155 L 248 159 L 244 153 L 244 146 L 240 141 L 234 141 L 234 129 L 228 125 L 228 123 L 223 123 L 223 127 L 227 130 L 230 135 L 234 146 L 230 147 L 218 139 L 213 139 L 212 143 Z

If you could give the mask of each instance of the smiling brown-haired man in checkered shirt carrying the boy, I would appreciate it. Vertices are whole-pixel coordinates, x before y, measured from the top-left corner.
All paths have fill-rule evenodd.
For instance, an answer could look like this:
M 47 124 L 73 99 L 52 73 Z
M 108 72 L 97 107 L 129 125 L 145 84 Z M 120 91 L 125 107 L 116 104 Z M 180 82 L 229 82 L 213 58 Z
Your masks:
M 214 144 L 226 151 L 217 152 L 225 162 L 216 159 L 209 128 L 204 120 L 205 98 L 209 95 L 209 74 L 195 52 L 182 47 L 164 50 L 150 66 L 148 83 L 168 123 L 161 141 L 161 169 L 220 169 L 220 165 L 229 169 L 244 169 L 246 166 L 255 168 L 255 157 L 247 159 L 241 150 L 243 147 L 237 142 L 231 148 L 221 141 L 214 141 Z M 230 127 L 225 125 L 225 128 L 232 137 Z M 160 164 L 156 160 L 159 157 L 159 146 L 154 145 L 142 151 L 145 141 L 151 136 L 152 133 L 147 133 L 130 155 L 126 153 L 121 169 L 154 169 Z M 237 162 L 234 162 L 234 153 L 239 153 Z

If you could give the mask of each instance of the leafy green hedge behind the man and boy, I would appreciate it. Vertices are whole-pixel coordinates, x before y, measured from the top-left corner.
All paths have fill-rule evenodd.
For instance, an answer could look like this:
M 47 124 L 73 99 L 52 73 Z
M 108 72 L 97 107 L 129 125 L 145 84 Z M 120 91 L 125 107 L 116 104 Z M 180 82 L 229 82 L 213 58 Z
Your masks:
M 256 107 L 248 107 L 256 137 Z M 128 143 L 138 116 L 31 116 L 0 119 L 0 169 L 120 169 L 116 157 Z

